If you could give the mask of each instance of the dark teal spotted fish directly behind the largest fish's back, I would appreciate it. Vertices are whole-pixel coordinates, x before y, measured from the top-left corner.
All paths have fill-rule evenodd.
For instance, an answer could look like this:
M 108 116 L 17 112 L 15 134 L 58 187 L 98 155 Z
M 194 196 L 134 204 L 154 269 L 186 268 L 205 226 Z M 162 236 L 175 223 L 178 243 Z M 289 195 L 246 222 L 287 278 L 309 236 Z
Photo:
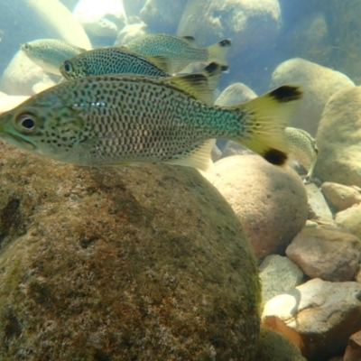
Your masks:
M 60 73 L 66 79 L 78 79 L 107 74 L 143 74 L 153 77 L 169 77 L 162 69 L 168 69 L 165 57 L 148 57 L 135 54 L 126 48 L 99 48 L 85 51 L 65 60 Z

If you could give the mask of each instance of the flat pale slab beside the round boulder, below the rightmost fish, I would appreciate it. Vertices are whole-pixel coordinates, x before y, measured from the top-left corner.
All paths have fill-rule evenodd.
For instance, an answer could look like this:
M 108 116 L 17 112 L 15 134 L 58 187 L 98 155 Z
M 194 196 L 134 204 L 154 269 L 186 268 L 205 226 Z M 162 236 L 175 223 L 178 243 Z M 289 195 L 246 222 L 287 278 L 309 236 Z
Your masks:
M 333 225 L 332 213 L 319 187 L 310 183 L 306 185 L 306 190 L 309 198 L 309 219 Z

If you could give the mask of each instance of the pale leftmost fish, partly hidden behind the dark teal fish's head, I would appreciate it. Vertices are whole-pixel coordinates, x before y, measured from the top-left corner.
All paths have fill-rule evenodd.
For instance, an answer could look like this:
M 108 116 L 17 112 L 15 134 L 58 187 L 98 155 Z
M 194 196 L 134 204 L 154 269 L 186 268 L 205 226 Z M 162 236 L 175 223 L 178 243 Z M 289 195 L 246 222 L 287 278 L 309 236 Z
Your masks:
M 85 49 L 56 39 L 40 39 L 25 42 L 20 48 L 36 65 L 52 74 L 61 75 L 60 65 Z

